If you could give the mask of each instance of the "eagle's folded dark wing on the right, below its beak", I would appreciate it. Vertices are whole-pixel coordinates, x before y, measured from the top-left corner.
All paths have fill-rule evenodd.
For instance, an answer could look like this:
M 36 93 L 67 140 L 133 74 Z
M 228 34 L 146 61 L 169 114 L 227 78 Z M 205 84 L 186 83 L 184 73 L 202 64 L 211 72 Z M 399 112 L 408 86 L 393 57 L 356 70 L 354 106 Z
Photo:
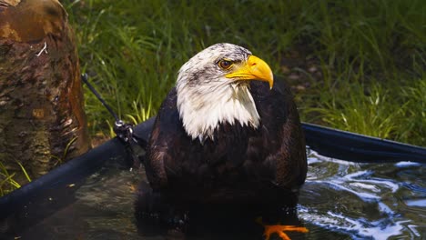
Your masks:
M 304 183 L 308 169 L 305 137 L 289 86 L 274 78 L 271 90 L 264 83 L 250 83 L 250 92 L 260 115 L 262 139 L 267 141 L 261 147 L 269 149 L 269 155 L 263 161 L 274 163 L 274 181 L 278 185 L 296 188 Z

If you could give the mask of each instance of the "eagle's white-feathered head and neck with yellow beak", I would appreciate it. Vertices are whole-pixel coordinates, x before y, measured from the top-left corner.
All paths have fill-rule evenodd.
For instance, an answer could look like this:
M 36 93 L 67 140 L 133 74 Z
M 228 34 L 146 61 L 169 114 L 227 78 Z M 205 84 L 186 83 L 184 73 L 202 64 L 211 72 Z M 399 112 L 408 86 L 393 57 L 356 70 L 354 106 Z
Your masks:
M 211 45 L 182 65 L 177 76 L 177 110 L 185 130 L 201 142 L 221 123 L 259 126 L 247 80 L 273 85 L 272 71 L 244 47 Z

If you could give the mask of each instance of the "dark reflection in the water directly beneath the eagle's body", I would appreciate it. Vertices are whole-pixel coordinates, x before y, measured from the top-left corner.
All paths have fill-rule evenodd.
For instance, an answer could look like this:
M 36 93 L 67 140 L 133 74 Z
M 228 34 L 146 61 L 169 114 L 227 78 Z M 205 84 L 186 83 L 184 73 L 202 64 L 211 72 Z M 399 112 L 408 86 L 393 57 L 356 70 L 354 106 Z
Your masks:
M 272 208 L 255 205 L 186 205 L 180 208 L 163 202 L 147 184 L 137 191 L 135 215 L 143 236 L 163 235 L 173 239 L 261 239 L 264 225 L 302 223 L 296 205 Z M 302 228 L 302 227 L 301 227 Z M 289 229 L 285 235 L 300 239 L 302 229 Z M 273 239 L 273 238 L 270 238 Z

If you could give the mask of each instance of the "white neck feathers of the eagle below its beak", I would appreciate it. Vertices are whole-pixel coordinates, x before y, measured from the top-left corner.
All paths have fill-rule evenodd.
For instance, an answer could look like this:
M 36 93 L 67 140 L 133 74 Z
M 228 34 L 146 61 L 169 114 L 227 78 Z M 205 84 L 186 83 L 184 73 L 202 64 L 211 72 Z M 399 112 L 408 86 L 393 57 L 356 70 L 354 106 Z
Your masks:
M 222 81 L 192 87 L 177 84 L 177 110 L 187 134 L 203 143 L 215 140 L 220 124 L 257 128 L 259 113 L 249 91 L 249 84 L 226 84 Z

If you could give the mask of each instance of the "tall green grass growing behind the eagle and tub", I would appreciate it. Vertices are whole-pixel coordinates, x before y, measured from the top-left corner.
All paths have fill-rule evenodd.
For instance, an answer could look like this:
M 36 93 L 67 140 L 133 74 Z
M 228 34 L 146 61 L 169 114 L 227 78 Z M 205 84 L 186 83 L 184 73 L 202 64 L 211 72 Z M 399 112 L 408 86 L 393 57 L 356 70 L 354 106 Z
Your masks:
M 68 2 L 66 2 L 68 3 Z M 64 4 L 83 71 L 127 122 L 155 115 L 177 70 L 218 42 L 248 47 L 276 75 L 297 50 L 304 121 L 426 145 L 426 2 L 106 1 Z M 86 90 L 92 135 L 113 121 Z

